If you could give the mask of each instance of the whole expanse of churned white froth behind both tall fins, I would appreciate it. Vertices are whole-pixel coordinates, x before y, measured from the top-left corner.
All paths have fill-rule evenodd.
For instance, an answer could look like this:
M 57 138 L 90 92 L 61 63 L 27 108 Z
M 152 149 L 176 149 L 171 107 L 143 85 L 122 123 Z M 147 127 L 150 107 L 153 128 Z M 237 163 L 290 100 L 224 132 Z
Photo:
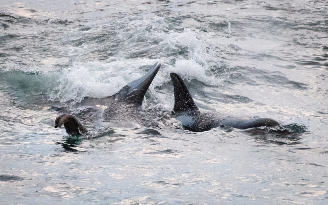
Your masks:
M 153 65 L 157 61 L 162 63 L 162 67 L 149 87 L 149 92 L 155 99 L 159 98 L 158 102 L 166 101 L 168 97 L 156 93 L 154 88 L 169 83 L 171 72 L 178 73 L 187 81 L 196 79 L 210 86 L 220 85 L 222 79 L 215 77 L 211 71 L 214 65 L 220 66 L 217 65 L 215 51 L 218 45 L 208 40 L 215 34 L 191 29 L 173 31 L 168 27 L 162 17 L 127 16 L 114 19 L 107 26 L 79 32 L 80 36 L 74 36 L 71 40 L 90 36 L 93 32 L 99 33 L 99 29 L 102 32 L 106 32 L 106 29 L 118 30 L 117 36 L 109 36 L 108 42 L 103 42 L 100 47 L 118 43 L 123 48 L 109 57 L 106 63 L 75 63 L 69 69 L 62 70 L 58 86 L 49 94 L 50 100 L 65 102 L 72 99 L 80 101 L 85 96 L 111 96 L 124 85 L 145 74 L 145 71 L 138 70 L 139 67 Z M 72 37 L 68 36 L 66 43 Z M 74 47 L 72 52 L 83 53 L 89 47 Z M 140 55 L 141 57 L 134 57 Z

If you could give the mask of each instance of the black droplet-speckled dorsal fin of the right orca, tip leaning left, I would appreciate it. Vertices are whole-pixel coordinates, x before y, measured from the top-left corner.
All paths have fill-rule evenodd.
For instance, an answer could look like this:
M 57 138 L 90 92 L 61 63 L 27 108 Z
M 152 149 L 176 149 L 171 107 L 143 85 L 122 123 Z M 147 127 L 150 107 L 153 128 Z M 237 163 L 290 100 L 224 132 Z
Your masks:
M 191 97 L 186 84 L 176 73 L 170 74 L 174 86 L 174 112 L 185 112 L 198 110 L 193 98 Z

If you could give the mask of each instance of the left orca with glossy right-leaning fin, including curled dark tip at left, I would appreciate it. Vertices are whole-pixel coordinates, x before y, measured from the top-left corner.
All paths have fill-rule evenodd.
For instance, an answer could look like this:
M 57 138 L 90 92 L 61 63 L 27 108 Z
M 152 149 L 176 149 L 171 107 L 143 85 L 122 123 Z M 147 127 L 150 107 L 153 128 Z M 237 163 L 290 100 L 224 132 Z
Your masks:
M 88 121 L 88 116 L 91 116 L 94 112 L 102 118 L 102 122 L 136 123 L 143 126 L 157 127 L 157 124 L 141 109 L 141 103 L 160 66 L 160 63 L 154 64 L 144 76 L 125 85 L 113 96 L 106 98 L 85 97 L 75 106 L 86 106 L 87 109 L 84 114 L 87 117 L 82 116 L 86 121 Z M 99 108 L 95 105 L 106 106 L 106 108 L 100 114 Z M 55 128 L 60 127 L 62 124 L 64 124 L 68 134 L 83 135 L 88 133 L 78 118 L 72 114 L 59 115 L 55 121 Z

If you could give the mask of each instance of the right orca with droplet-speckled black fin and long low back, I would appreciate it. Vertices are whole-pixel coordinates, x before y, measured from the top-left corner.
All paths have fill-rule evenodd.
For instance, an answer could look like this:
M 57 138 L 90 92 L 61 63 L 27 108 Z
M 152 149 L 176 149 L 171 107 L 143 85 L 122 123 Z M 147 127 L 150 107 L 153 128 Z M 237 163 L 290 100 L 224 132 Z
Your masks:
M 241 129 L 280 125 L 277 120 L 267 117 L 218 119 L 217 115 L 213 113 L 202 113 L 196 106 L 181 77 L 176 73 L 171 73 L 170 76 L 174 85 L 174 114 L 186 130 L 203 132 L 220 125 Z

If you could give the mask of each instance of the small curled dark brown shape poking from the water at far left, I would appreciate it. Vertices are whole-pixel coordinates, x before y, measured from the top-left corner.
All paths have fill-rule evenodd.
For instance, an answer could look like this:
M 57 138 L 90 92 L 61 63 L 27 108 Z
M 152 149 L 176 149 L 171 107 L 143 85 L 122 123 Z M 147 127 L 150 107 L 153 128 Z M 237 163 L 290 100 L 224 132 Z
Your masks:
M 55 128 L 60 128 L 64 124 L 66 132 L 71 135 L 86 134 L 88 130 L 81 124 L 75 115 L 61 114 L 55 120 Z

